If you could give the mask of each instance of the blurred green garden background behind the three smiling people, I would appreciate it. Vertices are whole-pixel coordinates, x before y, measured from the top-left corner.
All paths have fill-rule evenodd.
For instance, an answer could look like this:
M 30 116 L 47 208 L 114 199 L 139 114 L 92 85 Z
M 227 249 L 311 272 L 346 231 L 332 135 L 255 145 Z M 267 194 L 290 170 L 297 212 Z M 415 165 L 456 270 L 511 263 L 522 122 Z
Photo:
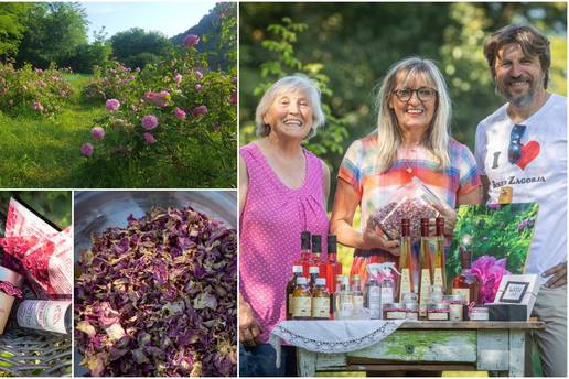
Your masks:
M 490 34 L 530 23 L 551 42 L 549 90 L 567 94 L 567 3 L 240 3 L 240 143 L 255 139 L 255 108 L 283 75 L 319 82 L 328 122 L 308 148 L 335 177 L 350 143 L 375 128 L 374 87 L 404 57 L 434 59 L 453 104 L 452 134 L 474 149 L 476 124 L 504 100 L 482 54 Z M 331 208 L 335 180 L 329 201 Z

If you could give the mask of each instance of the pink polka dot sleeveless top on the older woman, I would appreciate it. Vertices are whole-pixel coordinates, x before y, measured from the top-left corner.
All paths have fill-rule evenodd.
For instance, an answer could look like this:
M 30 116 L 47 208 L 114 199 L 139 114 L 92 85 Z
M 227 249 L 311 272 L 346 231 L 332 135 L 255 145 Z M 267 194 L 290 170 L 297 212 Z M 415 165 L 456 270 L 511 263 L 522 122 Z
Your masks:
M 249 184 L 239 220 L 239 291 L 262 327 L 261 342 L 286 318 L 286 286 L 300 257 L 300 234 L 325 236 L 329 229 L 322 163 L 308 150 L 304 183 L 284 185 L 259 147 L 239 149 Z M 323 247 L 325 249 L 325 247 Z M 325 251 L 325 250 L 324 250 Z

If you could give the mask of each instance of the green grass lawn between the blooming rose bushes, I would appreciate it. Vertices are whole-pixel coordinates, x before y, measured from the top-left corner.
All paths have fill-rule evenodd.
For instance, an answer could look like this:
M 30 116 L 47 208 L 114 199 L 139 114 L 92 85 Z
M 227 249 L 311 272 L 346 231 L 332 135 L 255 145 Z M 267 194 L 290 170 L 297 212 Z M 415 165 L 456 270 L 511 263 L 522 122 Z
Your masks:
M 65 75 L 74 87 L 63 109 L 52 118 L 11 117 L 0 112 L 0 187 L 3 188 L 192 188 L 235 187 L 236 169 L 202 167 L 204 145 L 184 142 L 184 169 L 168 162 L 109 159 L 95 164 L 79 154 L 92 141 L 93 120 L 105 113 L 103 101 L 85 101 L 87 75 Z M 213 169 L 212 169 L 213 167 Z

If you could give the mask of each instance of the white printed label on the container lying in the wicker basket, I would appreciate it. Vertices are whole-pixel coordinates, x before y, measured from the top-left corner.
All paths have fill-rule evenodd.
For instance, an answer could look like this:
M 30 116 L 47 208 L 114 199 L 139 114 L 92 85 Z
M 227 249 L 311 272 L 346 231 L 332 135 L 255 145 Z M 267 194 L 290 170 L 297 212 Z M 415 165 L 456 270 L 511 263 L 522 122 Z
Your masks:
M 25 300 L 18 307 L 18 325 L 39 331 L 67 334 L 65 312 L 71 301 Z

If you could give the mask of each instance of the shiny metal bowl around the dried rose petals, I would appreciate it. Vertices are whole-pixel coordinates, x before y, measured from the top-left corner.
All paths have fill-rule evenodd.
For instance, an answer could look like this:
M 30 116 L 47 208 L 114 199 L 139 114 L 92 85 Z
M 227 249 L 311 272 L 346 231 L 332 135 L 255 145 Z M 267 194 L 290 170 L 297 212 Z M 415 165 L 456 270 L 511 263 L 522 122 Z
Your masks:
M 236 191 L 82 191 L 74 198 L 74 259 L 92 247 L 93 232 L 101 234 L 109 227 L 126 227 L 128 216 L 141 218 L 153 206 L 191 206 L 213 219 L 237 228 Z M 75 273 L 78 274 L 77 268 Z M 74 347 L 74 375 L 86 376 L 79 366 L 83 360 Z

